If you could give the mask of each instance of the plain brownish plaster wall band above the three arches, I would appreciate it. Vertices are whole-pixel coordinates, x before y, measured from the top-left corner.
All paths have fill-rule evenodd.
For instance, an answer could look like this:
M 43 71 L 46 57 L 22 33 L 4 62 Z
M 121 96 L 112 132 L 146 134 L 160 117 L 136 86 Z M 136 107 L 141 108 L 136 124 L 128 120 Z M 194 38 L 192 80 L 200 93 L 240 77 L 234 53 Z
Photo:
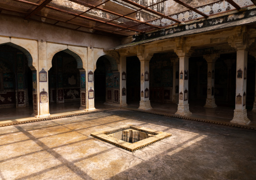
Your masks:
M 36 21 L 0 16 L 0 36 L 18 37 L 75 46 L 92 46 L 105 50 L 120 45 L 117 38 L 93 35 Z

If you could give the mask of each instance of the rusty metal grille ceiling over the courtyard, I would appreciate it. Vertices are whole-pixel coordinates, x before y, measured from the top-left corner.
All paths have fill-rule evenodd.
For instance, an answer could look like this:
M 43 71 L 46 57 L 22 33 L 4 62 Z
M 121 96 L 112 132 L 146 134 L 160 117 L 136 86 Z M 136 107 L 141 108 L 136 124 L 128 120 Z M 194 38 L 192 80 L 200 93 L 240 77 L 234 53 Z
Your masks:
M 130 36 L 253 6 L 249 0 L 0 0 L 2 14 Z

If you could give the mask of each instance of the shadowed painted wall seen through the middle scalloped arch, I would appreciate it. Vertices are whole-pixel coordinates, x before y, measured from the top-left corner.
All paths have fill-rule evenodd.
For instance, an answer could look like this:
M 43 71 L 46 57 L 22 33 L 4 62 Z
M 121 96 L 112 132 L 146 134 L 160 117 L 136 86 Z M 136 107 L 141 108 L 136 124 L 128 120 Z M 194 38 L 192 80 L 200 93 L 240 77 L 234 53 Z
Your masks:
M 80 99 L 80 88 L 85 89 L 85 72 L 77 69 L 76 59 L 64 52 L 59 52 L 52 59 L 49 70 L 49 88 L 51 102 Z

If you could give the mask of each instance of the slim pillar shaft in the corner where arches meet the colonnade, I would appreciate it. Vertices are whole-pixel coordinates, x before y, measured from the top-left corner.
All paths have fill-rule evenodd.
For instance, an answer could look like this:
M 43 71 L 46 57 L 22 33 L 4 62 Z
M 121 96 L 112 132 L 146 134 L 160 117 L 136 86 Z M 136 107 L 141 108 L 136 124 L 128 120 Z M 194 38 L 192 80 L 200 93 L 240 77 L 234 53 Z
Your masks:
M 118 66 L 120 72 L 120 106 L 127 106 L 126 104 L 126 57 L 120 57 L 120 65 Z

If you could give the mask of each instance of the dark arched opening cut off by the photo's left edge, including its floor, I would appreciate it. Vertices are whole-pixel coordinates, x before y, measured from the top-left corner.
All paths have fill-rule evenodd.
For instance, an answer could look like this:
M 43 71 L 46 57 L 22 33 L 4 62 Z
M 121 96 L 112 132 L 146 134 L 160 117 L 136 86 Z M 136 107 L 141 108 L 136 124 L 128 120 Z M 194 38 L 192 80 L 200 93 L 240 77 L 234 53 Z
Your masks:
M 33 91 L 32 70 L 36 73 L 26 49 L 13 43 L 0 45 L 0 114 L 3 114 L 0 120 L 30 117 L 33 113 L 36 92 Z M 37 112 L 36 99 L 34 104 Z

